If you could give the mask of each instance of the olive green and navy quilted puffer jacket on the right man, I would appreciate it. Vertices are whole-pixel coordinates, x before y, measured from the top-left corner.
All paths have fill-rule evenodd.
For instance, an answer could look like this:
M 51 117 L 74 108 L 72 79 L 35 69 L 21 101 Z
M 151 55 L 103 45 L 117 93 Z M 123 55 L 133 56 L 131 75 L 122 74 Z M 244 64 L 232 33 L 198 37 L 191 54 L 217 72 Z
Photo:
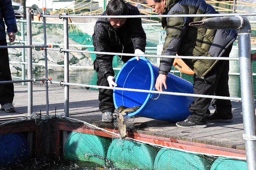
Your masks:
M 166 0 L 163 14 L 211 14 L 215 9 L 204 0 Z M 162 55 L 220 57 L 236 40 L 235 29 L 212 30 L 189 26 L 190 22 L 201 21 L 207 17 L 169 17 L 161 18 L 166 38 Z M 183 61 L 204 79 L 218 60 L 183 59 Z M 160 71 L 170 72 L 172 58 L 161 58 Z

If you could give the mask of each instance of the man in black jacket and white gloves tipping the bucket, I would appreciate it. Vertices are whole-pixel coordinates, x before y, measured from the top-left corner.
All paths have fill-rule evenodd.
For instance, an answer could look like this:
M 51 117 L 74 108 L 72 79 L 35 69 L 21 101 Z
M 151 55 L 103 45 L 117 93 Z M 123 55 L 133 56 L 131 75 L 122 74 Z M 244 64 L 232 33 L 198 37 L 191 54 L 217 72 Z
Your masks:
M 126 4 L 123 0 L 109 1 L 102 15 L 139 15 L 139 10 Z M 146 34 L 142 28 L 141 18 L 99 18 L 92 35 L 95 51 L 144 54 Z M 114 55 L 96 54 L 94 69 L 97 72 L 97 85 L 117 86 L 114 82 L 112 66 Z M 130 56 L 119 56 L 126 62 Z M 139 60 L 139 57 L 136 57 Z M 99 109 L 103 122 L 113 122 L 113 90 L 99 88 Z

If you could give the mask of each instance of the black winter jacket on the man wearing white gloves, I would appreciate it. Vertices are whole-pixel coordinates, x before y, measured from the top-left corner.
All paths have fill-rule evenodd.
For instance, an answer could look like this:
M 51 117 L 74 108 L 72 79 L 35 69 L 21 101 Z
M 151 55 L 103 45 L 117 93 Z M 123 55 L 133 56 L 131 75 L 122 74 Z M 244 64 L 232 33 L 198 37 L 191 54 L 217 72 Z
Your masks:
M 128 15 L 139 15 L 139 10 L 127 4 L 129 8 Z M 102 15 L 106 15 L 104 12 Z M 99 18 L 94 26 L 92 35 L 94 51 L 100 52 L 122 52 L 128 46 L 140 49 L 145 52 L 146 34 L 142 28 L 141 18 L 127 18 L 124 25 L 115 29 L 109 22 L 108 18 Z M 94 68 L 104 74 L 105 77 L 114 76 L 112 67 L 114 55 L 96 54 Z M 98 69 L 97 69 L 98 67 Z

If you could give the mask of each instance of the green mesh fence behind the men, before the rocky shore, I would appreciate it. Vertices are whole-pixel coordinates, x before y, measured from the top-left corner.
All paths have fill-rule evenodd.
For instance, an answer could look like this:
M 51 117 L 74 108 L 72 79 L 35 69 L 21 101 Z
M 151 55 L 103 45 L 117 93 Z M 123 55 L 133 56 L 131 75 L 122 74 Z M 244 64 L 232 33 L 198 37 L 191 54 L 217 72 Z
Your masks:
M 17 21 L 18 32 L 16 33 L 16 44 L 19 45 L 21 37 L 21 27 L 24 28 L 25 41 L 26 41 L 26 22 Z M 161 44 L 164 43 L 166 36 L 165 30 L 161 28 L 159 23 L 142 24 L 143 29 L 147 35 L 147 46 L 146 54 L 161 54 Z M 92 34 L 93 34 L 94 23 L 70 23 L 69 24 L 69 49 L 75 50 L 88 50 L 94 51 L 92 45 Z M 256 39 L 256 22 L 251 22 L 252 27 L 252 39 Z M 42 22 L 32 22 L 32 42 L 34 44 L 43 43 L 43 24 Z M 51 44 L 53 48 L 64 48 L 63 45 L 63 23 L 47 23 L 46 24 L 46 37 L 47 43 Z M 13 44 L 13 43 L 12 43 Z M 251 45 L 252 53 L 256 53 L 256 45 Z M 14 78 L 21 77 L 21 61 L 22 49 L 8 49 L 9 60 L 11 64 L 11 72 Z M 35 78 L 44 76 L 44 52 L 38 49 L 32 49 L 33 53 L 33 73 Z M 58 51 L 47 51 L 48 58 L 48 76 L 52 77 L 54 81 L 61 81 L 64 79 L 64 53 Z M 27 51 L 25 52 L 27 55 Z M 233 44 L 233 49 L 230 53 L 230 57 L 238 57 L 238 44 L 237 40 Z M 69 64 L 70 64 L 70 82 L 83 83 L 96 85 L 97 73 L 93 70 L 93 61 L 95 60 L 95 54 L 88 53 L 69 53 Z M 148 60 L 158 65 L 157 58 L 149 57 Z M 27 56 L 25 56 L 27 61 Z M 113 67 L 115 75 L 123 66 L 123 62 L 119 63 L 120 58 L 114 56 Z M 229 61 L 229 91 L 231 97 L 241 97 L 240 91 L 240 79 L 239 79 L 239 62 Z M 26 65 L 27 68 L 27 65 Z M 172 67 L 171 73 L 173 73 L 174 67 Z M 256 61 L 252 62 L 253 71 L 253 83 L 254 83 L 254 94 L 256 94 Z M 193 83 L 193 76 L 187 74 L 180 74 L 177 70 L 174 72 L 175 75 L 181 76 L 183 79 Z M 256 96 L 254 97 L 256 98 Z

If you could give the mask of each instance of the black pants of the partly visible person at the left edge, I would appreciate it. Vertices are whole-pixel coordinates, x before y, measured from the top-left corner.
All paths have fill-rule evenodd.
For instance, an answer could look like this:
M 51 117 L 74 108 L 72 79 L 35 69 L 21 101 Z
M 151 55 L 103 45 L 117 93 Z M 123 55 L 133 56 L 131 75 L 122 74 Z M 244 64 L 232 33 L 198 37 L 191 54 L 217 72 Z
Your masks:
M 6 39 L 0 40 L 1 46 L 7 46 Z M 9 66 L 9 56 L 7 48 L 0 49 L 0 81 L 8 81 L 11 79 L 11 71 Z M 0 84 L 0 104 L 12 103 L 14 98 L 13 83 Z

